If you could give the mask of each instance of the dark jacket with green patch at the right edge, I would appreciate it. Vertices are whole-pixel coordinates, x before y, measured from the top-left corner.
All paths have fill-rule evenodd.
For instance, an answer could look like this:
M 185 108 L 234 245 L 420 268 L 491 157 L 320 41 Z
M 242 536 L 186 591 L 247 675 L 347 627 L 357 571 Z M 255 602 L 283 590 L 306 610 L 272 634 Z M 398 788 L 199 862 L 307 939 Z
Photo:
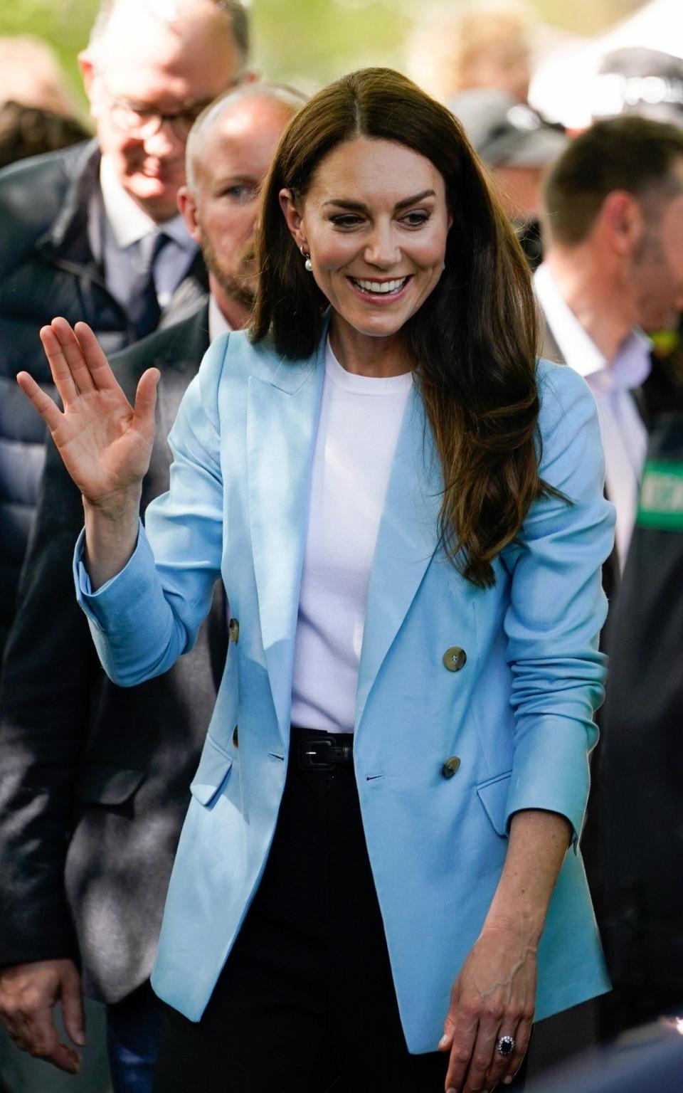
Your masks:
M 603 717 L 602 928 L 632 1021 L 683 1001 L 682 480 L 683 416 L 671 414 L 650 438 Z

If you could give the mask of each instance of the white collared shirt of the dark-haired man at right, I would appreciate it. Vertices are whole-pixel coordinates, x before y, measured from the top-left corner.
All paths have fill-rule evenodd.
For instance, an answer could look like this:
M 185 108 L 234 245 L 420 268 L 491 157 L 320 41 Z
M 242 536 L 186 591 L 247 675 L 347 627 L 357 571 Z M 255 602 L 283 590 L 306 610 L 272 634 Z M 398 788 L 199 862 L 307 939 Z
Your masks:
M 598 406 L 605 484 L 616 508 L 616 555 L 623 568 L 647 451 L 647 430 L 631 391 L 649 375 L 651 342 L 643 331 L 632 330 L 614 359 L 607 361 L 565 302 L 545 263 L 538 268 L 533 279 L 545 320 L 565 363 L 584 376 Z

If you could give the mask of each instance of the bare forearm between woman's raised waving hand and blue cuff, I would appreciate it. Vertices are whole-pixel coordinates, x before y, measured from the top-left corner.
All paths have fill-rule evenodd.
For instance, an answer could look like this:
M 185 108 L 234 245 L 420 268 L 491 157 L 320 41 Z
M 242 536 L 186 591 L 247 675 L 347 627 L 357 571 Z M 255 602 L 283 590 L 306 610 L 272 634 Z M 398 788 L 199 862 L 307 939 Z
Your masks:
M 85 550 L 83 561 L 93 591 L 115 577 L 130 561 L 138 541 L 140 497 L 137 484 L 93 505 L 83 498 Z

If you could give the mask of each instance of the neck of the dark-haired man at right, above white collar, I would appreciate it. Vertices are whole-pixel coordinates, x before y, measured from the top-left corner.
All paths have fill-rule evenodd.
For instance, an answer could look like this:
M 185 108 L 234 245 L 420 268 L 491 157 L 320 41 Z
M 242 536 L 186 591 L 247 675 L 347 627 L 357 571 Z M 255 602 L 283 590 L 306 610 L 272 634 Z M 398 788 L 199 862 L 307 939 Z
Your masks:
M 611 364 L 635 322 L 632 292 L 617 265 L 591 243 L 551 247 L 543 261 L 565 303 Z

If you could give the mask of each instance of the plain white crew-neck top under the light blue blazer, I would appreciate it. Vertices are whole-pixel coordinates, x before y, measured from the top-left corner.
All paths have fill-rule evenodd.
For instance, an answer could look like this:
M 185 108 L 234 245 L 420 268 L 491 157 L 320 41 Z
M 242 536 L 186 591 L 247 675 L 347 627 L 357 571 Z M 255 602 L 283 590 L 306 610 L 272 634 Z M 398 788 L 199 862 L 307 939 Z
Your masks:
M 370 566 L 412 379 L 346 372 L 327 344 L 292 684 L 303 728 L 353 732 Z

